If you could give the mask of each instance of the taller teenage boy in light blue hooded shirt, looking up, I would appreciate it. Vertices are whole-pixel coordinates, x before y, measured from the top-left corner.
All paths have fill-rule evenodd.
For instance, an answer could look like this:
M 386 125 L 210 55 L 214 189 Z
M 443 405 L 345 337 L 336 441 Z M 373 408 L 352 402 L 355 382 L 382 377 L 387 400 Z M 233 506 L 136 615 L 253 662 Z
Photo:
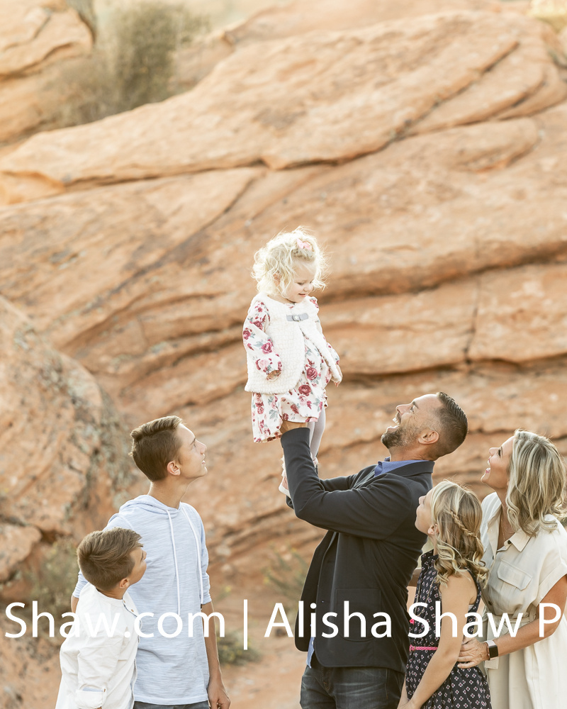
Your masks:
M 132 591 L 143 616 L 135 709 L 208 709 L 209 703 L 228 709 L 214 626 L 205 637 L 198 616 L 213 613 L 205 530 L 197 510 L 181 502 L 187 486 L 207 473 L 207 447 L 178 416 L 157 418 L 131 435 L 131 455 L 150 490 L 125 503 L 106 528 L 138 532 L 150 562 Z M 79 577 L 72 608 L 83 583 Z

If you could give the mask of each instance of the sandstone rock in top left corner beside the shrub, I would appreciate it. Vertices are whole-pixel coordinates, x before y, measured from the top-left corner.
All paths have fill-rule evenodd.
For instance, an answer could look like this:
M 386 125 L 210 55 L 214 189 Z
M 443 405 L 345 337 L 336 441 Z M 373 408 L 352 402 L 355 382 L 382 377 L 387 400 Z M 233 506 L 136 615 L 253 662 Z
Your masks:
M 61 62 L 91 45 L 88 28 L 63 0 L 0 0 L 0 144 L 50 118 L 47 97 L 55 100 Z

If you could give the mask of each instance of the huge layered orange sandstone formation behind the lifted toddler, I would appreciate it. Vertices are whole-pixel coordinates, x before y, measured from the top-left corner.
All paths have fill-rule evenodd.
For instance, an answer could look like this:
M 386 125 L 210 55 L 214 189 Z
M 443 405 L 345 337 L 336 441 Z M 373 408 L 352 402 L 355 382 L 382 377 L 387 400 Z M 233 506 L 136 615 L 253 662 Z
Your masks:
M 344 382 L 323 474 L 376 459 L 426 391 L 471 424 L 437 476 L 479 493 L 516 427 L 566 447 L 564 59 L 548 27 L 486 8 L 248 28 L 190 93 L 0 158 L 1 294 L 129 425 L 179 413 L 205 440 L 191 501 L 227 577 L 318 536 L 276 493 L 279 446 L 252 445 L 243 391 L 252 258 L 283 228 L 332 255 L 321 318 Z M 296 11 L 278 12 L 293 28 Z

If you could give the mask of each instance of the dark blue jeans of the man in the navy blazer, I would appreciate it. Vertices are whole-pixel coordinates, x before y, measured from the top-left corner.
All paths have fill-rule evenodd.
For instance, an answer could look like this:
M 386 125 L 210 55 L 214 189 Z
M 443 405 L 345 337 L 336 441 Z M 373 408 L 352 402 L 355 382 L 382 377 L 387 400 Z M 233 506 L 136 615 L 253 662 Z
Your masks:
M 313 656 L 301 680 L 302 709 L 397 709 L 404 676 L 384 667 L 323 667 Z

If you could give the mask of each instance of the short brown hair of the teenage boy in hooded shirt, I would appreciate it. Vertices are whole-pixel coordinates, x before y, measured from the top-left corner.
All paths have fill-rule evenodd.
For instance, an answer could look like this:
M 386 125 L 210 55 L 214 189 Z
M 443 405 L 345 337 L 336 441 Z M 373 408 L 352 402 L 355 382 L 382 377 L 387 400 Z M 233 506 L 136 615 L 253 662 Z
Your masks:
M 179 416 L 164 416 L 143 423 L 130 433 L 135 464 L 152 482 L 167 477 L 167 464 L 176 458 L 181 441 L 177 427 L 183 421 Z

